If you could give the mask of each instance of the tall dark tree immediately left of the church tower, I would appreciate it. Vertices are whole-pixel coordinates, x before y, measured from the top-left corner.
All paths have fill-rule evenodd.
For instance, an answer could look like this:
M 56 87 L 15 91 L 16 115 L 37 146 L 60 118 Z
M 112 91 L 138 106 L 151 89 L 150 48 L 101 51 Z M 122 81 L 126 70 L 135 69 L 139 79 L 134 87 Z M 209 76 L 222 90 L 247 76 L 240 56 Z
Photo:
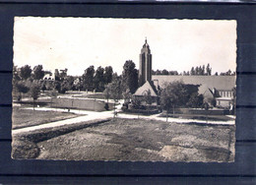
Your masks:
M 135 69 L 135 63 L 132 60 L 127 60 L 123 66 L 122 84 L 124 91 L 129 89 L 134 93 L 138 89 L 138 70 Z

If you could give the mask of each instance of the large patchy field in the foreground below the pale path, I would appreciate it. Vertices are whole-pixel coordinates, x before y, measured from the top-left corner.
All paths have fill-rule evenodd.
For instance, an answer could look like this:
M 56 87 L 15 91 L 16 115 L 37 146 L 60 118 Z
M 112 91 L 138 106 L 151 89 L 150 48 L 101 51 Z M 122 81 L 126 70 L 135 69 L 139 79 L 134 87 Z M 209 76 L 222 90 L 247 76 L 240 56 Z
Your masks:
M 115 118 L 36 144 L 37 158 L 133 161 L 233 161 L 234 125 Z

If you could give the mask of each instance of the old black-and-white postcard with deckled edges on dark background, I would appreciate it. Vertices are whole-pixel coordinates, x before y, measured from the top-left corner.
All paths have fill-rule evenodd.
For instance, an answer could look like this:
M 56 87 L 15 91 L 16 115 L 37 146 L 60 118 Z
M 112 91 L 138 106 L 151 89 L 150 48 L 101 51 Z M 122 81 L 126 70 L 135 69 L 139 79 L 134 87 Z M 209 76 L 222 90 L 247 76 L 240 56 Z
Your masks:
M 236 21 L 15 17 L 12 157 L 233 162 Z

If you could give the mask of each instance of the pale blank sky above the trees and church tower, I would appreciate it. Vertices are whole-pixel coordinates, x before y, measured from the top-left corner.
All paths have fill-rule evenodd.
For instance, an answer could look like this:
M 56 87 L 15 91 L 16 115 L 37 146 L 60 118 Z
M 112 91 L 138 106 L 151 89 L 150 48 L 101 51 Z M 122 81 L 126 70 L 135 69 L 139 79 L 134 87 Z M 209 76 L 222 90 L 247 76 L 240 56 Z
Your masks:
M 147 37 L 153 70 L 190 71 L 210 63 L 213 73 L 236 69 L 236 21 L 15 17 L 14 65 L 68 69 L 80 76 L 91 65 L 122 73 L 139 68 Z

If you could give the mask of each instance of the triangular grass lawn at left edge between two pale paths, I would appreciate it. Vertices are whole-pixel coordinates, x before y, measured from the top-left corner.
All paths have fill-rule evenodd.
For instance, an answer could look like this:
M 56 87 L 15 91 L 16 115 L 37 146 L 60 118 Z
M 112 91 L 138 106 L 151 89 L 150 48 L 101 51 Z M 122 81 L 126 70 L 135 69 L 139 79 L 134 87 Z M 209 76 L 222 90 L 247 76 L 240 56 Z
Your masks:
M 13 129 L 40 125 L 77 116 L 80 115 L 69 112 L 39 111 L 13 107 Z

